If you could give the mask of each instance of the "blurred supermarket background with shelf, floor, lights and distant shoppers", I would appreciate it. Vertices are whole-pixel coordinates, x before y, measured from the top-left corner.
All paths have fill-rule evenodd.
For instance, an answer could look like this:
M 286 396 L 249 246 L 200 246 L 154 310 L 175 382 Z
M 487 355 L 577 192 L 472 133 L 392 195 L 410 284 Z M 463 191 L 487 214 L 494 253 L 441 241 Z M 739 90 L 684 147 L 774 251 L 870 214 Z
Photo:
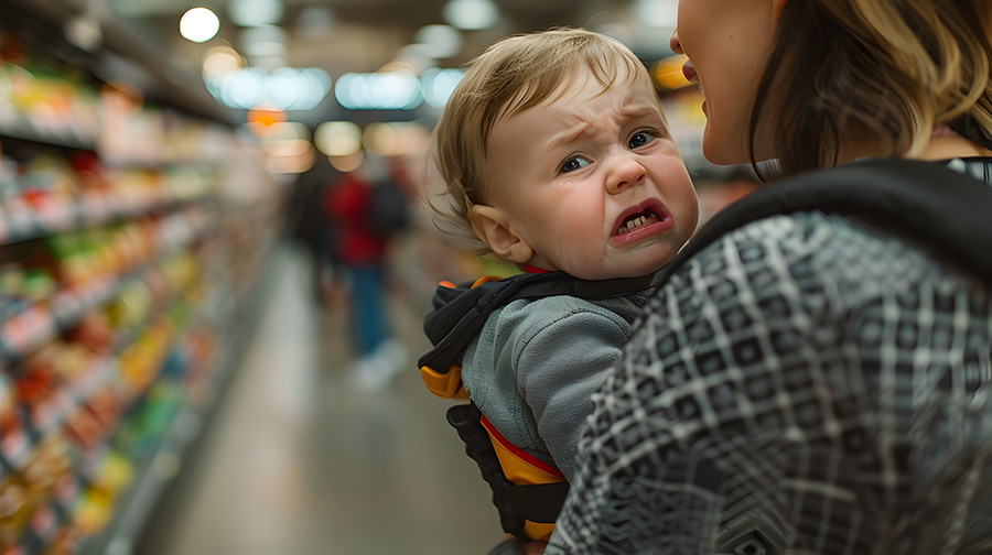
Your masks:
M 498 543 L 416 359 L 439 281 L 514 269 L 430 225 L 424 149 L 465 62 L 584 26 L 649 68 L 708 217 L 755 184 L 702 157 L 676 10 L 0 0 L 0 553 Z

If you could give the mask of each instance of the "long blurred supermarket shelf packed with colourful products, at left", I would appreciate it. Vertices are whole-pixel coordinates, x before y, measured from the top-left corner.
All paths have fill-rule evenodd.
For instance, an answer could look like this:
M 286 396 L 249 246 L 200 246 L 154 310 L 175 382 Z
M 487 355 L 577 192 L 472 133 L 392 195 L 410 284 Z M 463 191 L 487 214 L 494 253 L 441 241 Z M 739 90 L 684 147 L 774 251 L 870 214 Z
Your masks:
M 258 305 L 278 183 L 0 23 L 0 555 L 118 553 Z

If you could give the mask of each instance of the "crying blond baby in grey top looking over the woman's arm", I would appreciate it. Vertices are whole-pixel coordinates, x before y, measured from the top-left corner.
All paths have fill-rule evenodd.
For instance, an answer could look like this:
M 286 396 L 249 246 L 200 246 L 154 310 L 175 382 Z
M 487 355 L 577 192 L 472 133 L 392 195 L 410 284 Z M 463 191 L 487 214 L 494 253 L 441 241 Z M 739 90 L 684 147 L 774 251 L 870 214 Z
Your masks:
M 630 336 L 651 274 L 696 230 L 696 191 L 644 64 L 586 30 L 489 47 L 449 99 L 433 145 L 446 185 L 435 221 L 524 273 L 439 287 L 427 326 L 436 348 L 422 366 L 440 372 L 425 370 L 424 381 L 442 398 L 464 383 L 481 411 L 466 425 L 482 420 L 527 463 L 505 466 L 507 479 L 544 476 L 563 492 L 590 394 Z M 518 283 L 540 292 L 489 293 Z M 467 333 L 472 318 L 483 322 Z M 527 515 L 554 505 L 549 489 L 502 515 L 507 532 L 547 540 L 557 511 Z

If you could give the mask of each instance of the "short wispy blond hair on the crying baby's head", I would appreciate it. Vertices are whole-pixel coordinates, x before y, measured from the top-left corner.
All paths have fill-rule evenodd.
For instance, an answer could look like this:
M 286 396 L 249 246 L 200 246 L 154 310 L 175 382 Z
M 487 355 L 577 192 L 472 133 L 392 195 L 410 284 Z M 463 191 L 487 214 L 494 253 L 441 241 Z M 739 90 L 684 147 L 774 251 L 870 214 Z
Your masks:
M 647 69 L 629 48 L 584 29 L 507 36 L 470 62 L 431 137 L 431 162 L 443 181 L 443 192 L 429 203 L 441 231 L 463 239 L 470 251 L 488 252 L 472 231 L 468 215 L 492 194 L 486 187 L 486 161 L 493 127 L 559 98 L 586 70 L 604 89 L 622 76 L 646 79 L 650 86 Z

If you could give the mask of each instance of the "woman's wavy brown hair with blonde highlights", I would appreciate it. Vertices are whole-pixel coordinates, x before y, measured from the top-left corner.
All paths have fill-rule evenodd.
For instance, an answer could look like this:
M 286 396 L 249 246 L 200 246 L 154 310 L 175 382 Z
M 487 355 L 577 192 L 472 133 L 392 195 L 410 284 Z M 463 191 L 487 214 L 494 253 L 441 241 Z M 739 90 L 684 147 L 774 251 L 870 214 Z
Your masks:
M 778 33 L 752 111 L 756 170 L 759 122 L 785 175 L 845 162 L 851 144 L 914 156 L 941 123 L 992 130 L 990 0 L 790 0 Z

